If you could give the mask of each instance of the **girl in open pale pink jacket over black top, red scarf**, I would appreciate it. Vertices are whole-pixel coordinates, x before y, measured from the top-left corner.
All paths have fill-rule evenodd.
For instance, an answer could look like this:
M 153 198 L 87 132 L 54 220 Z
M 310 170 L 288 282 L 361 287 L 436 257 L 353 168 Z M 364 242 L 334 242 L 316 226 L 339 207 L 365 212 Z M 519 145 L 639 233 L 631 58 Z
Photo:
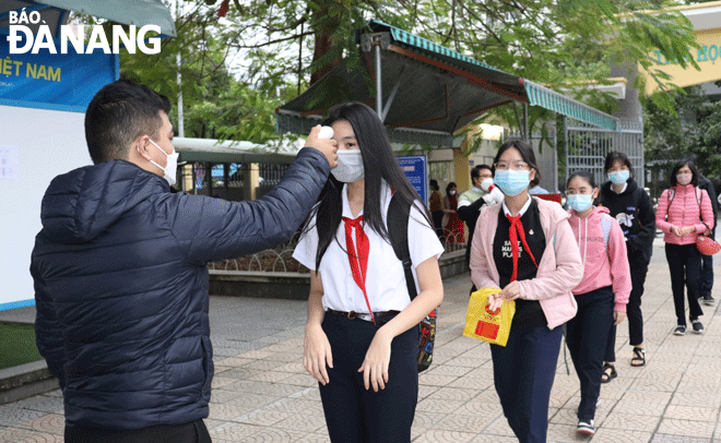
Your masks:
M 508 343 L 490 345 L 490 355 L 504 415 L 522 443 L 546 441 L 563 324 L 576 315 L 571 289 L 583 274 L 568 214 L 529 195 L 537 175 L 528 143 L 500 146 L 494 182 L 505 199 L 481 212 L 471 247 L 473 284 L 503 289 L 489 297 L 490 309 L 516 300 Z

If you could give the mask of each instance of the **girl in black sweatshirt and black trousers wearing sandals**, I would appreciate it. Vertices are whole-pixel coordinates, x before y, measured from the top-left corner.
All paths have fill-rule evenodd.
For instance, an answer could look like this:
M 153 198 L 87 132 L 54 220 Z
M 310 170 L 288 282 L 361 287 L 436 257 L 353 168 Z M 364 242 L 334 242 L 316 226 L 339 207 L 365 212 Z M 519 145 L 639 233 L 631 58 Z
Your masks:
M 655 238 L 655 213 L 651 197 L 634 180 L 634 168 L 624 153 L 608 153 L 604 170 L 608 181 L 601 187 L 600 205 L 608 208 L 608 215 L 614 217 L 626 239 L 628 265 L 631 273 L 631 292 L 626 306 L 628 319 L 628 343 L 633 346 L 633 367 L 646 364 L 643 348 L 643 315 L 641 313 L 641 296 L 643 284 L 649 271 L 653 239 Z M 616 326 L 611 327 L 608 343 L 604 356 L 601 383 L 607 383 L 617 376 L 616 361 Z

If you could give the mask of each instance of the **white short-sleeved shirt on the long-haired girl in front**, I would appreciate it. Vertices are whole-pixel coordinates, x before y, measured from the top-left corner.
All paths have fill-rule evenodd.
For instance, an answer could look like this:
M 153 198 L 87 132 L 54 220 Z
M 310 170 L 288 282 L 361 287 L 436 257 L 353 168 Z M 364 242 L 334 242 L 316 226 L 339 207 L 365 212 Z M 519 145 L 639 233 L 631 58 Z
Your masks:
M 383 183 L 381 188 L 381 208 L 383 223 L 390 205 L 390 188 Z M 343 217 L 357 218 L 361 213 L 353 217 L 351 206 L 348 205 L 347 184 L 341 192 L 343 200 Z M 364 223 L 365 225 L 365 223 Z M 320 273 L 323 284 L 323 308 L 344 312 L 367 313 L 368 307 L 363 296 L 363 290 L 356 285 L 351 273 L 351 264 L 345 251 L 345 223 L 341 220 L 338 227 L 338 241 L 333 239 L 326 250 L 320 262 L 320 268 L 316 270 L 316 251 L 318 250 L 318 229 L 316 219 L 310 220 L 310 229 L 303 236 L 298 246 L 293 252 L 293 258 L 309 270 Z M 403 265 L 395 256 L 393 247 L 380 235 L 364 226 L 364 231 L 368 237 L 368 270 L 366 273 L 366 292 L 368 301 L 374 312 L 380 311 L 402 311 L 411 303 L 407 287 L 405 285 L 405 274 Z M 355 231 L 353 232 L 354 248 Z M 340 243 L 340 244 L 339 244 Z M 418 278 L 415 268 L 418 264 L 425 262 L 432 256 L 440 258 L 444 247 L 440 244 L 434 229 L 428 225 L 426 218 L 413 205 L 411 207 L 411 218 L 409 219 L 409 250 L 411 252 L 411 262 L 413 263 L 413 277 L 416 282 L 416 290 L 419 292 Z

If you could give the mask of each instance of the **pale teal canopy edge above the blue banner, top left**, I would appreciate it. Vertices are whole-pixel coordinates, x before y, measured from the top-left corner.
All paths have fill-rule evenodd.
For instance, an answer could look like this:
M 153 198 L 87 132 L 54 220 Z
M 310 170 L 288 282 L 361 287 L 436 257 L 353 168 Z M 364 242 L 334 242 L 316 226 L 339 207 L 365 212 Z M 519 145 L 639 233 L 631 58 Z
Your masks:
M 161 34 L 175 37 L 175 22 L 162 0 L 0 0 L 0 27 L 8 27 L 9 11 L 39 11 L 43 20 L 57 35 L 58 26 L 68 21 L 68 11 L 80 12 L 126 25 L 157 25 Z M 33 25 L 29 25 L 33 28 Z

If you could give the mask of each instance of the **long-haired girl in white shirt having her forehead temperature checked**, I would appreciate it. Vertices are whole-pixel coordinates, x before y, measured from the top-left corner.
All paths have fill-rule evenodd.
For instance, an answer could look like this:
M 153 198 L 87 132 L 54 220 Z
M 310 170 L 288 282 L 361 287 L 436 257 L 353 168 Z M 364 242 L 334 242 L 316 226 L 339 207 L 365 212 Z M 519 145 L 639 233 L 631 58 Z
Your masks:
M 311 270 L 304 366 L 320 384 L 332 442 L 410 442 L 416 326 L 442 301 L 444 248 L 378 115 L 347 103 L 331 108 L 323 124 L 333 129 L 339 166 L 293 254 Z M 387 228 L 391 196 L 410 207 L 412 301 Z

